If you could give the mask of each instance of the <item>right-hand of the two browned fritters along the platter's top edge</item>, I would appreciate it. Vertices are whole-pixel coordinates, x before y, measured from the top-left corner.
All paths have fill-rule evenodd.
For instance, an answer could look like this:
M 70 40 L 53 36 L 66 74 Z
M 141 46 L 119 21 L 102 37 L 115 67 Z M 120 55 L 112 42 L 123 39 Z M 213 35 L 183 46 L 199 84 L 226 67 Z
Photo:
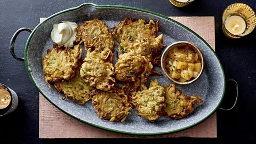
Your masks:
M 158 32 L 158 21 L 156 23 L 150 20 L 148 23 L 143 20 L 133 20 L 125 18 L 119 23 L 113 34 L 122 47 L 126 47 L 129 43 L 136 40 L 141 41 L 142 38 L 155 38 Z

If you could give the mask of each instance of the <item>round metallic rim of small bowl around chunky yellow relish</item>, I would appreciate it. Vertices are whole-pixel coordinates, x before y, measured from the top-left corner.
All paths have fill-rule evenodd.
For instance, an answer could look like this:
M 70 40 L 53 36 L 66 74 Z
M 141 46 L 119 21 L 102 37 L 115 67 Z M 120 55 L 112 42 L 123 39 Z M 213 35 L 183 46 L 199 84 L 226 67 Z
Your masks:
M 167 57 L 166 57 L 167 53 L 169 53 L 174 47 L 180 47 L 180 46 L 186 46 L 186 45 L 189 45 L 198 54 L 198 57 L 201 58 L 202 68 L 201 68 L 201 71 L 199 72 L 199 74 L 197 75 L 196 78 L 190 79 L 187 82 L 179 82 L 179 81 L 173 79 L 171 77 L 171 75 L 169 74 L 169 71 L 167 71 L 167 68 L 166 68 L 166 65 L 165 65 L 165 60 L 167 59 Z M 203 70 L 204 70 L 204 56 L 203 56 L 202 51 L 193 43 L 190 43 L 190 42 L 187 42 L 187 41 L 175 42 L 175 43 L 169 45 L 168 47 L 166 47 L 164 53 L 162 54 L 161 67 L 162 67 L 162 70 L 163 70 L 165 76 L 167 78 L 169 78 L 175 84 L 180 84 L 180 85 L 190 84 L 190 83 L 195 82 L 201 76 L 201 74 L 203 73 Z

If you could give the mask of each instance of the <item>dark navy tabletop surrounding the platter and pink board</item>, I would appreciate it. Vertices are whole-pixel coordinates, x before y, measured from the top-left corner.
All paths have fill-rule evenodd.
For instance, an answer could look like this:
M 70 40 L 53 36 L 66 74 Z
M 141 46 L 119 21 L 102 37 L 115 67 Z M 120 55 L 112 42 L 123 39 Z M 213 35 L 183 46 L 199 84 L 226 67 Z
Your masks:
M 15 60 L 9 51 L 12 35 L 21 27 L 35 28 L 39 18 L 82 3 L 116 4 L 139 7 L 167 16 L 214 16 L 216 53 L 226 78 L 234 78 L 239 85 L 236 107 L 230 111 L 217 110 L 218 138 L 169 139 L 38 139 L 38 91 L 31 83 L 24 62 Z M 256 11 L 256 1 L 196 0 L 186 7 L 174 7 L 168 0 L 151 1 L 4 1 L 0 0 L 0 83 L 9 86 L 19 96 L 17 109 L 0 117 L 0 143 L 159 143 L 214 142 L 255 143 L 256 132 L 256 30 L 240 39 L 229 39 L 222 33 L 221 16 L 230 4 L 243 2 Z M 15 52 L 23 57 L 29 33 L 21 33 Z M 223 107 L 234 100 L 234 86 L 228 83 Z

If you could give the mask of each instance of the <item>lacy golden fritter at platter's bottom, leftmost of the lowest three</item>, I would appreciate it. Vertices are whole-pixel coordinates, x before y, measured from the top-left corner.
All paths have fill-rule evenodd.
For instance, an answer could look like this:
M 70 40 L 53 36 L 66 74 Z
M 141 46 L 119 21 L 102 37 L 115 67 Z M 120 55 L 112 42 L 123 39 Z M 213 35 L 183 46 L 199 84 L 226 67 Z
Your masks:
M 94 109 L 102 119 L 110 119 L 110 122 L 124 122 L 130 115 L 132 106 L 127 101 L 127 95 L 122 90 L 115 92 L 98 92 L 92 98 Z

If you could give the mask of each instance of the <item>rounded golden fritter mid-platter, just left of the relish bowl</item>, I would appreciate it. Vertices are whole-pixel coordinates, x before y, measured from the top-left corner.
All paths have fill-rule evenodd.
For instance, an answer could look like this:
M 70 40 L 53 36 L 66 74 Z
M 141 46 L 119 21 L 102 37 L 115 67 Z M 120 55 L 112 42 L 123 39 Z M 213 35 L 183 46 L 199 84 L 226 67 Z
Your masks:
M 145 83 L 152 68 L 153 66 L 145 57 L 124 53 L 119 56 L 115 65 L 115 76 L 123 82 L 135 82 L 140 78 L 141 83 Z

